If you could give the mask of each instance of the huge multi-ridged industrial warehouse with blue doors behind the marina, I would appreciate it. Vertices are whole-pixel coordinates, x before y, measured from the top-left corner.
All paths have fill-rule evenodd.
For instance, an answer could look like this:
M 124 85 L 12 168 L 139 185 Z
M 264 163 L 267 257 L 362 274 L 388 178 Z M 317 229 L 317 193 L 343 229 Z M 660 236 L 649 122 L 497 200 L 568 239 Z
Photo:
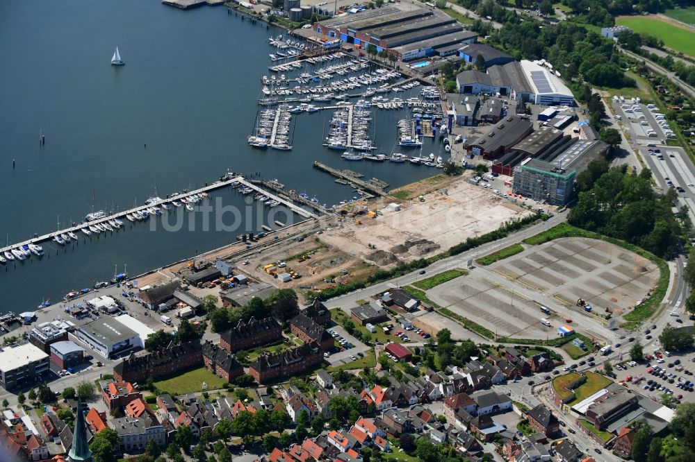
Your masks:
M 476 33 L 443 12 L 412 6 L 384 6 L 326 19 L 315 31 L 357 47 L 373 44 L 402 61 L 454 55 L 461 46 L 477 42 Z

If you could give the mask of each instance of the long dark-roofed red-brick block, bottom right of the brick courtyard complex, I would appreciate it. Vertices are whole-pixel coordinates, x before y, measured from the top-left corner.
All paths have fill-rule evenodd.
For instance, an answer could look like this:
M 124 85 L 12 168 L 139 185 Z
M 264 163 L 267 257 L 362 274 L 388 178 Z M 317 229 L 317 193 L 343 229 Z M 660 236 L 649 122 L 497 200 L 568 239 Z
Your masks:
M 323 361 L 323 352 L 318 343 L 305 343 L 299 348 L 265 354 L 256 359 L 249 368 L 249 373 L 262 384 L 279 377 L 291 377 L 306 368 L 316 366 Z

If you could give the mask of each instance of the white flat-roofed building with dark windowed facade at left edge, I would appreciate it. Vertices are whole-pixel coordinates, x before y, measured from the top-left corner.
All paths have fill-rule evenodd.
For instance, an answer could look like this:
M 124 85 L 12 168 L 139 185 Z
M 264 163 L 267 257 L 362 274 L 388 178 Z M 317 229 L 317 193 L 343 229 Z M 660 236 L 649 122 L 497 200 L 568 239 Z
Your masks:
M 6 390 L 42 380 L 48 370 L 49 355 L 31 343 L 0 352 L 0 386 Z

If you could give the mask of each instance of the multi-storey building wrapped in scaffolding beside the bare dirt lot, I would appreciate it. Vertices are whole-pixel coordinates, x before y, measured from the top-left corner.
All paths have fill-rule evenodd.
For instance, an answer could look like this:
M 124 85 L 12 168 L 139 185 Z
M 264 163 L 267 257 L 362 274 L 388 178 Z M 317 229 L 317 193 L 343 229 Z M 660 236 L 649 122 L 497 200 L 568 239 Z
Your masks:
M 577 171 L 537 159 L 527 159 L 514 172 L 514 194 L 550 205 L 565 205 L 574 194 Z

